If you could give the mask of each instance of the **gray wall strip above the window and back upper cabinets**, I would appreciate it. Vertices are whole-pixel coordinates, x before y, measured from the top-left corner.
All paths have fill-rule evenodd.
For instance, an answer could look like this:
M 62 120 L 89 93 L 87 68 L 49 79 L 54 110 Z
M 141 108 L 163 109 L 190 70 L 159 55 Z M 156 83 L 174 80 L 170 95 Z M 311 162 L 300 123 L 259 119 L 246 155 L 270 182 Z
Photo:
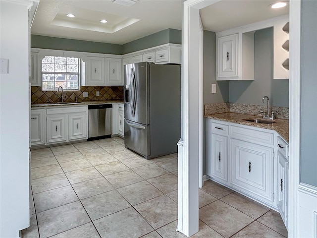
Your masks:
M 31 47 L 122 55 L 122 45 L 31 35 Z

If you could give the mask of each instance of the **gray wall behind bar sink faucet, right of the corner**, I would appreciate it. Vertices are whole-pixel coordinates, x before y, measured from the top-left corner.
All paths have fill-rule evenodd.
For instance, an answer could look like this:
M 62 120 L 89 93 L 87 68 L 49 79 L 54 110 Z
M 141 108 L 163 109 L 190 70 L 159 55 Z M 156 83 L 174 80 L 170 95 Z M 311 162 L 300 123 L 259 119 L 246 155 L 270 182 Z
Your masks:
M 230 81 L 229 102 L 261 105 L 267 95 L 271 106 L 288 107 L 289 80 L 273 79 L 273 28 L 256 31 L 254 37 L 255 80 Z

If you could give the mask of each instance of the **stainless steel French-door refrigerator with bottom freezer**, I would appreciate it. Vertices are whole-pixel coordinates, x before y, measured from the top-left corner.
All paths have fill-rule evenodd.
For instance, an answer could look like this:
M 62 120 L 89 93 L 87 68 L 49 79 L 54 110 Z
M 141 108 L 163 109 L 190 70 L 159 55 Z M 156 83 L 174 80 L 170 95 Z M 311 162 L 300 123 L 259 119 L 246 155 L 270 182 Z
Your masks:
M 124 65 L 124 144 L 146 159 L 177 152 L 181 66 Z

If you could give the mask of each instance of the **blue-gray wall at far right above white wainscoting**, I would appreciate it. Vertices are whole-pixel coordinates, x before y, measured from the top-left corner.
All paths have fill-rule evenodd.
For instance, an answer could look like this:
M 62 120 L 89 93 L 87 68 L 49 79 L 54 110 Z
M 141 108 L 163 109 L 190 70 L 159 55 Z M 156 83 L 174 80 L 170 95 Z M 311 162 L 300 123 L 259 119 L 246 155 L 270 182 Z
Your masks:
M 301 8 L 300 180 L 317 187 L 317 1 Z

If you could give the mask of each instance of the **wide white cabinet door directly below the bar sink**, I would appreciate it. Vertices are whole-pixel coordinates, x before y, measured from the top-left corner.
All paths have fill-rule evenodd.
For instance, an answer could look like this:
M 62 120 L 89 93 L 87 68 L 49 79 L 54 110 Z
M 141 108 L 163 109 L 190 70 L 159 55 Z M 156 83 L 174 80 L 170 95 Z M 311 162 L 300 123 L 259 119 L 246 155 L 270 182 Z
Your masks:
M 273 148 L 230 139 L 231 183 L 273 201 Z

